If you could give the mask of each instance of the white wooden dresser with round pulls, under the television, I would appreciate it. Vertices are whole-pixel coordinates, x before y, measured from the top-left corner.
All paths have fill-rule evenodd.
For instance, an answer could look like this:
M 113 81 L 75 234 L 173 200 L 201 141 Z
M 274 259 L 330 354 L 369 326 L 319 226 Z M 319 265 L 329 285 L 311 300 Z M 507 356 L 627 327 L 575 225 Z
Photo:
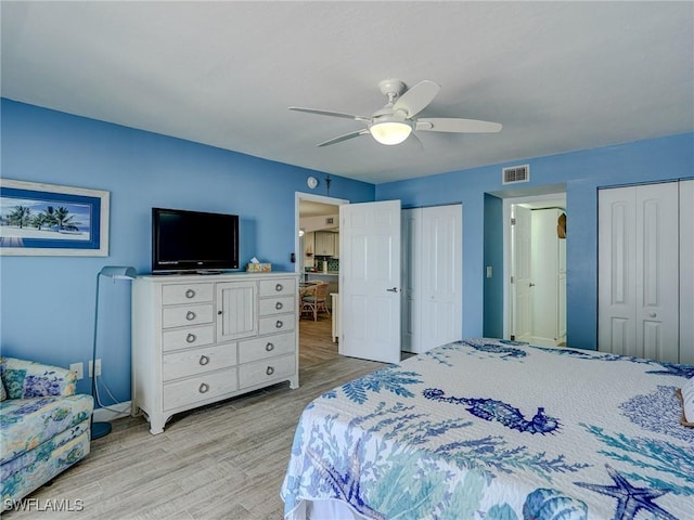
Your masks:
M 297 275 L 139 276 L 132 414 L 160 433 L 176 413 L 288 380 L 298 388 Z

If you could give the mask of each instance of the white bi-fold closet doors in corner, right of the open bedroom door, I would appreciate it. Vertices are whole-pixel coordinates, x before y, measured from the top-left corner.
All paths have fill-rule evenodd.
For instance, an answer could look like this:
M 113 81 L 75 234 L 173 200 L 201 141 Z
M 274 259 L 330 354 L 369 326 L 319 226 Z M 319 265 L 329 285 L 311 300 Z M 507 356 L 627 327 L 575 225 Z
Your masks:
M 403 209 L 401 349 L 421 353 L 461 339 L 461 205 Z

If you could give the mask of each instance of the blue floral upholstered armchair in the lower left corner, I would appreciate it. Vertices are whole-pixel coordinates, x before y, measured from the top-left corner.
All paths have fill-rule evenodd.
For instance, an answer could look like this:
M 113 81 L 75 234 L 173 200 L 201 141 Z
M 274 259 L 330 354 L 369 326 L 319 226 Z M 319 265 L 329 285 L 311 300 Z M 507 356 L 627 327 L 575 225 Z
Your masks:
M 0 358 L 2 509 L 89 454 L 91 395 L 75 394 L 75 374 Z

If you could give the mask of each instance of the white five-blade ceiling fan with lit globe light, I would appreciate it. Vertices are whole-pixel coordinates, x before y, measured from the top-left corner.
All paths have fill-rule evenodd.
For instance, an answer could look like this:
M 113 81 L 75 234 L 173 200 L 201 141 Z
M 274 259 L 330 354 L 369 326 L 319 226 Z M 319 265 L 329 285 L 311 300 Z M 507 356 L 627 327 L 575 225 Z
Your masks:
M 416 118 L 415 116 L 434 101 L 440 90 L 440 87 L 434 81 L 425 79 L 406 90 L 404 83 L 399 79 L 384 79 L 378 83 L 378 88 L 383 94 L 388 96 L 388 103 L 371 116 L 355 116 L 342 112 L 319 110 L 299 106 L 290 106 L 290 110 L 354 119 L 367 125 L 367 128 L 329 139 L 319 143 L 318 146 L 327 146 L 367 134 L 371 134 L 381 144 L 394 145 L 402 143 L 412 134 L 412 131 L 453 133 L 492 133 L 501 131 L 502 127 L 499 122 L 454 117 Z

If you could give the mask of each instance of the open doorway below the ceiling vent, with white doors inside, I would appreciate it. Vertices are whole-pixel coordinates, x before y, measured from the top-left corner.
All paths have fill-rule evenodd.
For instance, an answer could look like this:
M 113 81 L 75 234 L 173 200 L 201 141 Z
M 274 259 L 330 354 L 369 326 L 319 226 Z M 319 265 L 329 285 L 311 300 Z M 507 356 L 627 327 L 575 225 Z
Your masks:
M 566 195 L 504 200 L 504 337 L 566 344 Z

